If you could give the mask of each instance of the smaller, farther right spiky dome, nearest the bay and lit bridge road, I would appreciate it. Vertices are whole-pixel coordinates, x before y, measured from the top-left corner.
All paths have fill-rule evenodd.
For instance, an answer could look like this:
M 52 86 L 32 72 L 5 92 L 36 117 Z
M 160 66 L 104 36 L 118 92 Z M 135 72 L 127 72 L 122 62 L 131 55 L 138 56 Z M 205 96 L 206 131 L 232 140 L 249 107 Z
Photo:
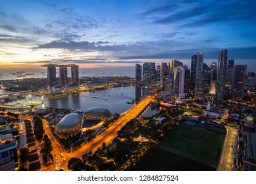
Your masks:
M 107 108 L 90 107 L 84 110 L 84 117 L 90 120 L 108 120 L 112 114 Z

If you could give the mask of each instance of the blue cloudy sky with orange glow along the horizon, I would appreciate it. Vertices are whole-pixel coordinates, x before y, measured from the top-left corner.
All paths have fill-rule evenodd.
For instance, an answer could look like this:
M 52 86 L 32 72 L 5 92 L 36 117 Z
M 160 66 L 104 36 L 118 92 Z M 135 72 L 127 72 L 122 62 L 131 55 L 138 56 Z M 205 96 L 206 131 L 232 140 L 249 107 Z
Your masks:
M 0 68 L 134 66 L 197 51 L 256 71 L 256 1 L 0 1 Z

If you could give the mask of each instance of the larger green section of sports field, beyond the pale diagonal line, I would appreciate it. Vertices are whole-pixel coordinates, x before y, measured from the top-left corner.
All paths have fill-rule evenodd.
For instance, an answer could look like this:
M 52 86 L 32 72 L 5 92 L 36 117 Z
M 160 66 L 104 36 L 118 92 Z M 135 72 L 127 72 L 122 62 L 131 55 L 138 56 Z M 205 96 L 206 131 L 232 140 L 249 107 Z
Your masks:
M 159 146 L 217 166 L 224 139 L 223 133 L 180 124 L 172 127 Z

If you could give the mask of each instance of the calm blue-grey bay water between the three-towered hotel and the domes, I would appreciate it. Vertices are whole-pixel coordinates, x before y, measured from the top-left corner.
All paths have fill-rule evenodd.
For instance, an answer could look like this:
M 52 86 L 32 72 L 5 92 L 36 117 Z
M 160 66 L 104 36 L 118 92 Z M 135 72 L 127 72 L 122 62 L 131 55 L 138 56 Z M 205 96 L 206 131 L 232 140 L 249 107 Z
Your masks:
M 53 108 L 71 108 L 78 110 L 80 108 L 89 107 L 103 107 L 108 108 L 111 113 L 121 113 L 133 106 L 133 104 L 127 104 L 127 101 L 132 101 L 135 97 L 134 87 L 116 87 L 113 89 L 105 89 L 93 92 L 70 94 L 65 97 L 57 99 L 47 97 L 26 96 L 23 99 L 16 99 L 9 104 L 16 104 L 22 101 L 43 101 L 45 107 Z M 37 106 L 41 108 L 41 106 Z

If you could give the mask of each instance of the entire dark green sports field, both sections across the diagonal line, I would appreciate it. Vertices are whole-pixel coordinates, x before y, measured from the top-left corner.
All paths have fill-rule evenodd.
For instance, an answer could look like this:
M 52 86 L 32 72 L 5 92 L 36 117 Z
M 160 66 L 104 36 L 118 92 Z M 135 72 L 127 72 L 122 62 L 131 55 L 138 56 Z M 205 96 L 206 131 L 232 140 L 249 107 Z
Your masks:
M 131 170 L 216 170 L 225 134 L 180 124 L 147 150 Z

